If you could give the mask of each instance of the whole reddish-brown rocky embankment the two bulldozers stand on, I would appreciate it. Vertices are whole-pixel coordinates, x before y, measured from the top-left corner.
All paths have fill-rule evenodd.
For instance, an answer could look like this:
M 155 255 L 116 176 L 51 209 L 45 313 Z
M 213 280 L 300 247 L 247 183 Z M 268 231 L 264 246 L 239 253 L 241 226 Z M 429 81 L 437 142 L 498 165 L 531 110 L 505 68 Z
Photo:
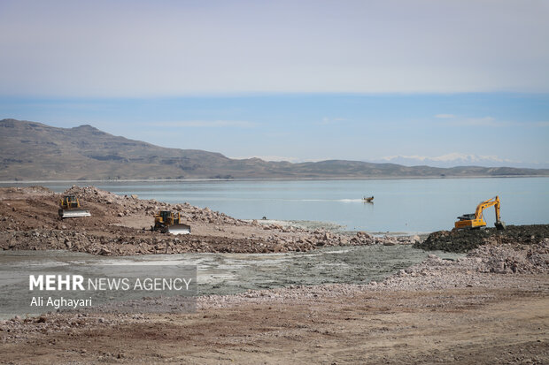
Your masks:
M 58 201 L 79 197 L 91 217 L 61 220 Z M 152 216 L 175 210 L 192 234 L 151 232 Z M 324 246 L 413 244 L 419 237 L 374 237 L 367 232 L 309 231 L 290 225 L 244 221 L 189 203 L 168 204 L 120 196 L 94 186 L 73 186 L 55 194 L 42 186 L 0 189 L 0 247 L 66 249 L 94 255 L 179 254 L 185 252 L 277 253 Z

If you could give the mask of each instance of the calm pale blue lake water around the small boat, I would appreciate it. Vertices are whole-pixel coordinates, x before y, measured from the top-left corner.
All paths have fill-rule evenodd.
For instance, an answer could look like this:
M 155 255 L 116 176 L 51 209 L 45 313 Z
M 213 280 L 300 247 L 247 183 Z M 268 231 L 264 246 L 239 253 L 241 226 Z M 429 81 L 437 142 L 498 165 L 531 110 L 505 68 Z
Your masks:
M 433 232 L 451 229 L 456 217 L 473 213 L 495 195 L 506 224 L 549 223 L 549 179 L 367 179 L 297 181 L 41 182 L 56 192 L 94 185 L 142 199 L 189 202 L 242 219 L 321 221 L 350 231 Z M 34 184 L 1 184 L 1 186 Z M 374 203 L 363 196 L 374 195 Z M 494 209 L 484 217 L 490 226 Z

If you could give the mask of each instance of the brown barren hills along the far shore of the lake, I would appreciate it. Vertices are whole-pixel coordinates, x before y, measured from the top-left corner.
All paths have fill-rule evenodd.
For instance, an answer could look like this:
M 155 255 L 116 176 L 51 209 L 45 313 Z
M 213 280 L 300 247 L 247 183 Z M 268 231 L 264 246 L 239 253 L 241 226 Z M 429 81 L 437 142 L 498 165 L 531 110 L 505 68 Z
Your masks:
M 57 128 L 0 120 L 0 180 L 53 179 L 368 179 L 549 176 L 549 169 L 403 166 L 329 160 L 310 163 L 232 159 L 198 149 L 162 148 L 91 125 Z

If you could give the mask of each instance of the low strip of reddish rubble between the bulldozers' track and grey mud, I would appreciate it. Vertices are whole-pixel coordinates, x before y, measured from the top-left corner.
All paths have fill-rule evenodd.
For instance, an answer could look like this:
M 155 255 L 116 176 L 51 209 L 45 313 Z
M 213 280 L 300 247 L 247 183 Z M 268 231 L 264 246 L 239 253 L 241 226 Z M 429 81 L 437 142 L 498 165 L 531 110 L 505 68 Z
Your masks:
M 109 234 L 110 233 L 110 234 Z M 149 255 L 182 254 L 186 252 L 213 253 L 284 253 L 305 252 L 318 247 L 358 246 L 372 244 L 406 244 L 411 241 L 394 238 L 349 238 L 331 233 L 299 234 L 287 237 L 273 233 L 267 238 L 242 239 L 220 236 L 173 236 L 159 232 L 135 232 L 112 227 L 106 235 L 72 230 L 30 230 L 0 232 L 3 249 L 66 249 L 92 255 Z M 329 238 L 327 238 L 327 234 Z

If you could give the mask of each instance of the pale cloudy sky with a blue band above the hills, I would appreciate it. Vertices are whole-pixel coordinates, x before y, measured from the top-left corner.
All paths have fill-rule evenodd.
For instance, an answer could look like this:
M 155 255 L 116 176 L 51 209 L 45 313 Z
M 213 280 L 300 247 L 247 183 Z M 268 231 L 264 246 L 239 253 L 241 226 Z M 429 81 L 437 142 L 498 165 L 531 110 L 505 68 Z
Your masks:
M 0 118 L 237 158 L 549 167 L 547 19 L 545 0 L 1 0 Z

